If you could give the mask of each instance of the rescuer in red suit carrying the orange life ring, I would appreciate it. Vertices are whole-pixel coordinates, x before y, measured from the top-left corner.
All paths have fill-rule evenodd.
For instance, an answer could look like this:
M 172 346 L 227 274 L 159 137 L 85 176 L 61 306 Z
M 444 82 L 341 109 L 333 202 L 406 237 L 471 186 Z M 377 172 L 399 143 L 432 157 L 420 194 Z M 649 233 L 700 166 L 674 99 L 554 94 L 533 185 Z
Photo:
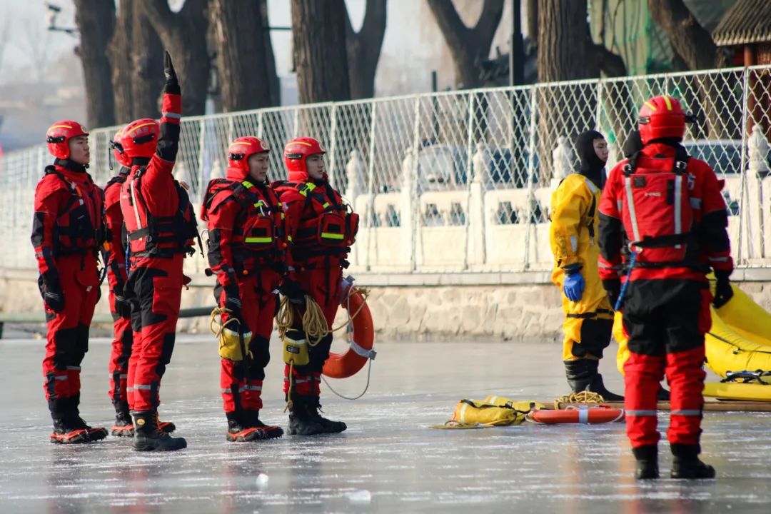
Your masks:
M 288 182 L 274 183 L 284 203 L 290 241 L 289 275 L 281 293 L 295 309 L 295 326 L 285 334 L 284 346 L 304 346 L 306 334 L 300 324 L 305 295 L 317 303 L 332 330 L 342 295 L 342 270 L 348 267 L 348 252 L 359 228 L 359 215 L 350 211 L 340 193 L 328 182 L 324 169 L 325 150 L 316 139 L 298 137 L 284 147 Z M 294 342 L 293 342 L 294 341 Z M 284 368 L 284 394 L 289 402 L 290 435 L 342 432 L 343 422 L 330 421 L 318 413 L 322 405 L 322 368 L 329 358 L 332 332 L 320 341 L 308 341 L 308 362 Z M 285 358 L 285 361 L 288 359 Z

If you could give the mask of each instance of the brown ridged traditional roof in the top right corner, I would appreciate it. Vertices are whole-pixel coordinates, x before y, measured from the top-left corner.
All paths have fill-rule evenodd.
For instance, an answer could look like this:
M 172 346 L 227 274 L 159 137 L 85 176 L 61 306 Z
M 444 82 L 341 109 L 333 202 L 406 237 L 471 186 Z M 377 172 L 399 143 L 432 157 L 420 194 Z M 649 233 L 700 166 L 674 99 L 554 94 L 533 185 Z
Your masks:
M 771 2 L 739 0 L 712 31 L 712 38 L 718 46 L 771 42 Z

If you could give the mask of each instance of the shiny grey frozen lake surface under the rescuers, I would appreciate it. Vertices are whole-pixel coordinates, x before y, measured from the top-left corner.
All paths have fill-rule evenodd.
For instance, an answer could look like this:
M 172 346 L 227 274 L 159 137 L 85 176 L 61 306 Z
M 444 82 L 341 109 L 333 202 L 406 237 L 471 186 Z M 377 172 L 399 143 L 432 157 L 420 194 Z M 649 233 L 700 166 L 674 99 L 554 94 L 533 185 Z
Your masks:
M 567 392 L 554 342 L 381 341 L 363 398 L 346 401 L 322 385 L 326 415 L 348 431 L 231 443 L 217 346 L 180 335 L 160 413 L 188 448 L 170 453 L 132 452 L 112 436 L 49 443 L 43 346 L 0 340 L 2 512 L 771 512 L 771 413 L 705 412 L 704 460 L 718 472 L 705 482 L 636 482 L 623 424 L 426 428 L 449 419 L 461 398 L 543 401 Z M 285 428 L 279 349 L 273 341 L 261 418 Z M 108 354 L 108 340 L 92 341 L 81 411 L 109 428 Z M 614 361 L 601 370 L 621 391 Z M 357 395 L 365 371 L 332 386 Z M 659 422 L 665 429 L 665 413 Z M 668 476 L 665 442 L 660 454 Z

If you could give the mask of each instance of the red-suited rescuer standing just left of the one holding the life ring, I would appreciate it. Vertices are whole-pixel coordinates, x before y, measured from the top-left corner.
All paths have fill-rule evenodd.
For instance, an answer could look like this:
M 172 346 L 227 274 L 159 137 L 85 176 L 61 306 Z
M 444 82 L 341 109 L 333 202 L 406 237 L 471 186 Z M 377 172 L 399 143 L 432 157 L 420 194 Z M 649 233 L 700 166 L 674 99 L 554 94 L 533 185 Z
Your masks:
M 239 137 L 227 149 L 227 176 L 209 183 L 201 207 L 207 221 L 208 257 L 217 277 L 214 298 L 229 312 L 221 321 L 251 332 L 246 355 L 221 356 L 220 386 L 227 417 L 226 438 L 248 442 L 278 438 L 278 426 L 260 421 L 262 381 L 271 360 L 269 342 L 278 307 L 278 287 L 286 270 L 284 211 L 268 183 L 268 144 Z M 240 343 L 240 341 L 239 341 Z

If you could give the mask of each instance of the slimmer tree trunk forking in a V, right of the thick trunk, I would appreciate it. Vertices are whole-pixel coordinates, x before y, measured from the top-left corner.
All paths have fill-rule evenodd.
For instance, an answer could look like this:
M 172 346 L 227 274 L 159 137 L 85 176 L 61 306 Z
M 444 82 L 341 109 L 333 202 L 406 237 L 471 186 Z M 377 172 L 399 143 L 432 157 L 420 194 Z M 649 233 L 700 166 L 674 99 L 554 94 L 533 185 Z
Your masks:
M 375 71 L 385 35 L 386 0 L 367 0 L 364 22 L 354 32 L 348 10 L 345 11 L 345 45 L 352 99 L 375 96 Z

